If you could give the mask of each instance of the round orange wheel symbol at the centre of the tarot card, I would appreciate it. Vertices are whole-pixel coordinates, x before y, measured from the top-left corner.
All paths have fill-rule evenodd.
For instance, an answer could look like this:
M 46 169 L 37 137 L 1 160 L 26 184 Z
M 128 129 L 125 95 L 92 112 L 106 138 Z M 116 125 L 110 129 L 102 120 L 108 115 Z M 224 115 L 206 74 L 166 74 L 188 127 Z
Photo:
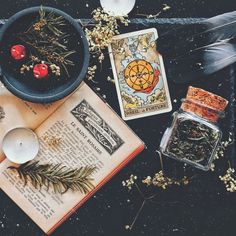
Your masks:
M 131 61 L 124 70 L 127 85 L 136 93 L 151 93 L 159 81 L 160 71 L 145 60 Z

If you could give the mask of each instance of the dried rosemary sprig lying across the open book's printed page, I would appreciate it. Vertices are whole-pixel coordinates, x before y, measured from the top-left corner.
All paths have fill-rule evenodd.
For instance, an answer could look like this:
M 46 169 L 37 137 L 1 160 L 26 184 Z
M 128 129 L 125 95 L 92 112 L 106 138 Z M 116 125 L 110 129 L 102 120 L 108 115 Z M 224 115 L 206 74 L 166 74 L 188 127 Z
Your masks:
M 28 180 L 36 189 L 45 186 L 47 191 L 50 187 L 55 193 L 63 194 L 69 189 L 88 193 L 94 188 L 91 174 L 96 167 L 85 166 L 76 169 L 70 169 L 62 164 L 39 164 L 38 161 L 27 162 L 19 167 L 10 166 L 11 170 L 17 171 L 24 185 Z

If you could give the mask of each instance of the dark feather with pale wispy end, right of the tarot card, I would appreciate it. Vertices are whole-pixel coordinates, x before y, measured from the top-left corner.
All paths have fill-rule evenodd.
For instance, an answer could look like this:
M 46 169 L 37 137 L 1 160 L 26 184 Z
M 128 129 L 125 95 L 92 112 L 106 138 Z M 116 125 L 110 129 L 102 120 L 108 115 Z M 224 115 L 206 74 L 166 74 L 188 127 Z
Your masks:
M 236 62 L 236 11 L 169 31 L 157 50 L 176 83 L 215 73 Z

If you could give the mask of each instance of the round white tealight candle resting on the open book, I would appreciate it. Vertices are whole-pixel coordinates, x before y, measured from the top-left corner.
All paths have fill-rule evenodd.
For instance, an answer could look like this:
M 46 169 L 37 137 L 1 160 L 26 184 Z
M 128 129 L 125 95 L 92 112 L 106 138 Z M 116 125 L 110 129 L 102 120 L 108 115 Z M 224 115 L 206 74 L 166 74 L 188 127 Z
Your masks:
M 27 128 L 12 129 L 3 138 L 2 150 L 11 162 L 26 163 L 33 160 L 38 154 L 38 137 Z

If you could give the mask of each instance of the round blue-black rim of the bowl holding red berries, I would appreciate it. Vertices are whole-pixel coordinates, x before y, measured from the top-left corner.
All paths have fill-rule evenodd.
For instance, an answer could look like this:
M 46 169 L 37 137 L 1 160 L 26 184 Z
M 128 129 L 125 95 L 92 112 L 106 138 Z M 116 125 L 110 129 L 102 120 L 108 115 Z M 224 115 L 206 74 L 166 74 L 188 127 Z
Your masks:
M 8 19 L 8 21 L 0 29 L 0 43 L 4 37 L 6 30 L 13 23 L 15 23 L 16 20 L 18 20 L 19 18 L 21 18 L 27 14 L 38 12 L 40 8 L 41 8 L 41 6 L 29 7 L 29 8 L 22 10 L 22 11 L 19 11 L 16 14 L 14 14 L 13 16 L 11 16 Z M 1 62 L 0 62 L 0 70 L 1 70 L 1 75 L 2 75 L 0 80 L 10 92 L 12 92 L 14 95 L 16 95 L 17 97 L 19 97 L 23 100 L 26 100 L 29 102 L 34 102 L 34 103 L 51 103 L 51 102 L 55 102 L 57 100 L 60 100 L 64 97 L 68 96 L 80 85 L 80 83 L 84 79 L 86 72 L 88 70 L 90 54 L 89 54 L 89 45 L 88 45 L 88 41 L 85 36 L 85 33 L 82 30 L 82 27 L 79 25 L 79 23 L 77 23 L 75 21 L 74 18 L 72 18 L 70 15 L 68 15 L 67 13 L 65 13 L 57 8 L 48 7 L 48 6 L 43 6 L 42 8 L 47 12 L 53 11 L 56 14 L 63 16 L 67 21 L 69 21 L 72 24 L 72 26 L 75 28 L 75 30 L 81 36 L 81 41 L 83 43 L 84 57 L 83 57 L 83 65 L 81 67 L 82 69 L 81 69 L 80 73 L 77 75 L 77 79 L 75 79 L 75 81 L 72 84 L 70 84 L 66 89 L 64 89 L 61 92 L 58 92 L 57 94 L 45 95 L 44 97 L 29 95 L 29 94 L 24 93 L 23 91 L 17 89 L 9 82 L 9 79 L 7 78 L 8 73 L 7 72 L 5 73 L 4 70 L 1 68 Z

